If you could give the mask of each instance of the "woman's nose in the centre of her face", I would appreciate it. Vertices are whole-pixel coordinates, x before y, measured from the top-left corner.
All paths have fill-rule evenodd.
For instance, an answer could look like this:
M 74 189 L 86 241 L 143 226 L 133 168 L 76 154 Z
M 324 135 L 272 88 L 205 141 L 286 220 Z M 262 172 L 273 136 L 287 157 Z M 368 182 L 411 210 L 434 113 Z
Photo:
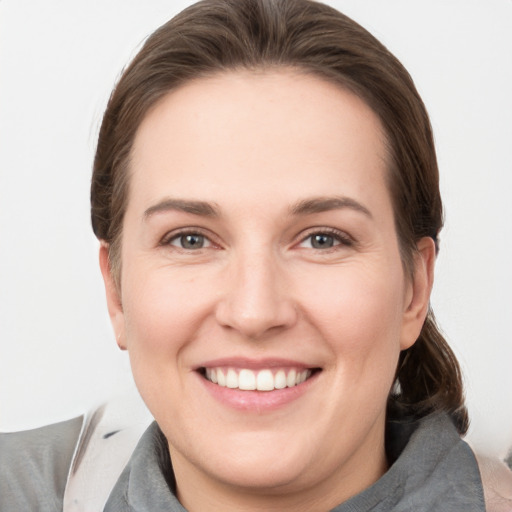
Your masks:
M 298 309 L 282 263 L 259 252 L 240 255 L 227 269 L 216 318 L 249 339 L 292 327 Z

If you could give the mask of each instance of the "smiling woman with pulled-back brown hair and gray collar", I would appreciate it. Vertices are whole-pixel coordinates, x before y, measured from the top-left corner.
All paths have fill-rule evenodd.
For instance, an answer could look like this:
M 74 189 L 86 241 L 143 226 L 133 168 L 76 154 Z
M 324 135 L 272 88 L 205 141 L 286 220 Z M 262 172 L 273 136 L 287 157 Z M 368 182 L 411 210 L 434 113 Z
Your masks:
M 484 510 L 429 311 L 431 129 L 364 29 L 302 0 L 183 11 L 110 99 L 91 201 L 156 420 L 105 510 Z M 87 435 L 71 463 L 79 424 L 52 428 L 61 453 L 40 473 L 58 504 Z

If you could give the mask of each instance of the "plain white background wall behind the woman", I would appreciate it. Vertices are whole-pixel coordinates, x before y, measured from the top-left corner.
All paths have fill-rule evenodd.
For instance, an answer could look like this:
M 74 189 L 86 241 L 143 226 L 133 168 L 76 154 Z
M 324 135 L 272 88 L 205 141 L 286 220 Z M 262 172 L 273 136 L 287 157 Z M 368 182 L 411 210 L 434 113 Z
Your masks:
M 130 383 L 89 221 L 101 114 L 124 64 L 188 5 L 0 0 L 0 430 Z M 512 445 L 512 1 L 330 2 L 409 69 L 431 114 L 446 227 L 433 305 L 464 369 L 470 440 Z

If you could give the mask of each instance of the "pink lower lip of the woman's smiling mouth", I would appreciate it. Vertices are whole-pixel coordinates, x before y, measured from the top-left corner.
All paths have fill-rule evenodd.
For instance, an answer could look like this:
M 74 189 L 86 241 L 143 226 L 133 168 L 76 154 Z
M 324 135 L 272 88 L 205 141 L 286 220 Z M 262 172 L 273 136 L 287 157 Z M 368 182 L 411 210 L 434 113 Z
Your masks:
M 219 386 L 202 375 L 198 377 L 203 382 L 208 392 L 219 402 L 234 409 L 255 411 L 258 413 L 273 411 L 300 398 L 317 379 L 318 373 L 314 373 L 308 380 L 297 386 L 273 391 L 243 391 Z

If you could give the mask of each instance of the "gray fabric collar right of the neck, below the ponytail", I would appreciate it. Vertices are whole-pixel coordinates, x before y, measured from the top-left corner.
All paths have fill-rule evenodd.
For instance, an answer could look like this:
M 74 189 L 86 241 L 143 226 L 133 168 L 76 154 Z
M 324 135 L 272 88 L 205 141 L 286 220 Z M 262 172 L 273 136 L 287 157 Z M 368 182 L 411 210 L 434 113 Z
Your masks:
M 469 446 L 449 417 L 430 416 L 413 424 L 396 462 L 373 486 L 332 512 L 484 512 L 480 471 Z M 411 425 L 391 425 L 408 432 Z

